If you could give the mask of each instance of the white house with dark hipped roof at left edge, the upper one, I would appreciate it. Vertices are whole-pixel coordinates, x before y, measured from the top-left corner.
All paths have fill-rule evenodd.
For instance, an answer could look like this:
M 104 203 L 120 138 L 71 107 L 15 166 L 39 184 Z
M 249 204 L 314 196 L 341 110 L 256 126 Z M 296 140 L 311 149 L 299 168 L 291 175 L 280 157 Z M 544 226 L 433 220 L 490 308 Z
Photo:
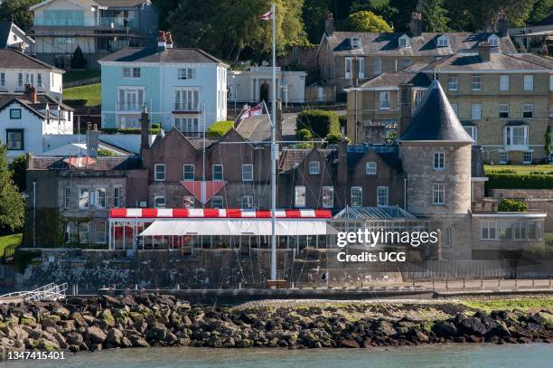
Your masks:
M 0 96 L 23 94 L 25 85 L 39 94 L 61 99 L 64 71 L 14 49 L 0 49 Z

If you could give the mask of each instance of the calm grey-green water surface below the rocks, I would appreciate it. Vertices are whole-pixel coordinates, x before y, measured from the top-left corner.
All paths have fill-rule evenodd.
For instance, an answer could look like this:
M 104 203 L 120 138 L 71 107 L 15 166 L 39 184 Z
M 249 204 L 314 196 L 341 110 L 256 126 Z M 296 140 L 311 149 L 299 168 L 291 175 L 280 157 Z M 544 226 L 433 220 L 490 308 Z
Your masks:
M 57 362 L 9 362 L 6 367 L 553 367 L 553 344 L 449 344 L 374 349 L 145 348 L 69 354 Z

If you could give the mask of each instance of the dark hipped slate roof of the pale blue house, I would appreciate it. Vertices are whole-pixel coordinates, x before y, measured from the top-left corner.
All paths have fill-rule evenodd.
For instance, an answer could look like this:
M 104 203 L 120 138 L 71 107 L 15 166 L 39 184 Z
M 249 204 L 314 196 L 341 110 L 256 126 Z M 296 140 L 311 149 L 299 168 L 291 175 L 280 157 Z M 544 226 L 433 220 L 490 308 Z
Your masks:
M 101 59 L 101 61 L 119 62 L 216 62 L 224 64 L 211 54 L 195 48 L 173 48 L 160 52 L 157 48 L 127 47 Z

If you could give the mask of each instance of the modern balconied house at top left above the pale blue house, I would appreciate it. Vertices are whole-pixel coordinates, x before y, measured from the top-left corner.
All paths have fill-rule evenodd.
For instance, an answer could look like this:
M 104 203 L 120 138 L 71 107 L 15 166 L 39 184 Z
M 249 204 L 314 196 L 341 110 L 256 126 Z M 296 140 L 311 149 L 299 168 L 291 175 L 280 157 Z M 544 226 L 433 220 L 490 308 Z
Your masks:
M 80 46 L 89 68 L 127 47 L 155 46 L 158 11 L 150 0 L 45 0 L 33 12 L 33 54 L 59 68 Z

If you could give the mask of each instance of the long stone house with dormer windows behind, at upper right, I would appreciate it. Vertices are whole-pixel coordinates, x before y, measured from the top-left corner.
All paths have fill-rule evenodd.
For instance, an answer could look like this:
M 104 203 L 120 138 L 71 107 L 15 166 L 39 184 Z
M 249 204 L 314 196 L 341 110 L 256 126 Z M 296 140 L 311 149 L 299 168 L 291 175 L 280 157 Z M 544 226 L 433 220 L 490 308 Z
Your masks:
M 332 14 L 329 15 L 317 52 L 321 82 L 326 87 L 333 86 L 338 99 L 345 100 L 343 89 L 358 84 L 358 80 L 401 71 L 461 50 L 475 50 L 481 42 L 489 42 L 501 52 L 516 52 L 507 35 L 504 15 L 500 16 L 497 33 L 425 33 L 422 22 L 421 14 L 413 13 L 408 33 L 335 32 Z M 354 62 L 358 64 L 355 71 Z

